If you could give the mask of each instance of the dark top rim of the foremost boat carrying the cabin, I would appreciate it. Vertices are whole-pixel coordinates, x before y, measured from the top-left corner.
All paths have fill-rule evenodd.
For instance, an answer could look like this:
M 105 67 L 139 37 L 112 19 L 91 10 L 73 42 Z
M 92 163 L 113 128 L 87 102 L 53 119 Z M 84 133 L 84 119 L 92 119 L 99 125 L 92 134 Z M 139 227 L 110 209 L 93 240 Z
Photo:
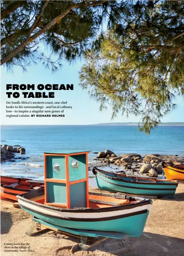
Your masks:
M 44 194 L 44 188 L 37 189 L 35 191 L 30 191 L 30 192 L 27 192 L 27 193 L 24 193 L 24 194 L 19 194 L 19 195 L 16 196 L 16 198 L 18 200 L 23 200 L 24 202 L 27 202 L 29 204 L 33 204 L 33 205 L 36 205 L 36 206 L 41 206 L 42 208 L 61 211 L 61 212 L 72 212 L 72 213 L 100 213 L 100 212 L 107 212 L 107 211 L 119 211 L 119 210 L 123 210 L 123 209 L 131 209 L 131 208 L 135 208 L 135 207 L 139 207 L 139 206 L 143 206 L 143 205 L 147 205 L 147 204 L 152 204 L 152 200 L 147 199 L 147 198 L 140 198 L 141 199 L 140 202 L 136 202 L 136 203 L 132 203 L 132 204 L 112 206 L 112 207 L 102 207 L 102 208 L 97 208 L 97 209 L 87 208 L 87 207 L 78 207 L 78 208 L 76 207 L 75 209 L 66 209 L 66 208 L 58 208 L 58 207 L 55 207 L 55 206 L 40 204 L 38 202 L 29 200 L 29 199 L 34 198 L 36 196 L 33 196 L 29 199 L 24 197 L 24 196 L 29 196 L 33 192 L 37 192 L 37 193 L 40 192 L 40 193 L 42 193 L 41 195 L 43 195 Z M 102 193 L 99 193 L 99 194 L 102 195 Z M 128 196 L 128 199 L 129 198 L 130 197 Z M 137 198 L 138 199 L 138 197 L 131 197 L 131 198 L 135 198 L 135 199 Z

